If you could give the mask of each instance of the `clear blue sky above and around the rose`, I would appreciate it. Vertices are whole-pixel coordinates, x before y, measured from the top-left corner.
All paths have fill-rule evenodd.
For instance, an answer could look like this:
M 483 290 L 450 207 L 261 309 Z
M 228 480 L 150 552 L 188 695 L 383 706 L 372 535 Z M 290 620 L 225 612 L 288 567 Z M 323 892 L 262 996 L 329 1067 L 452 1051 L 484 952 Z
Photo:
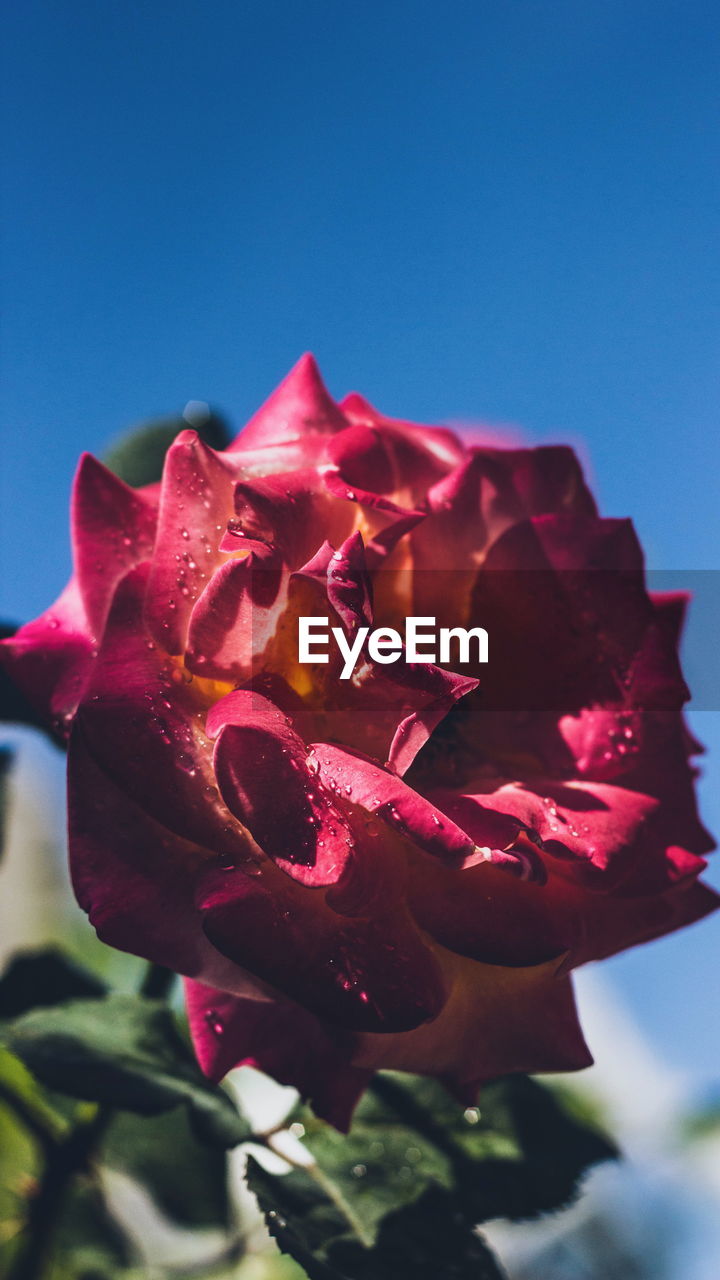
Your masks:
M 655 567 L 720 567 L 716 4 L 23 0 L 3 28 L 5 614 L 67 577 L 82 449 L 191 398 L 240 425 L 307 348 L 391 413 L 579 443 Z M 717 1078 L 719 942 L 607 966 Z

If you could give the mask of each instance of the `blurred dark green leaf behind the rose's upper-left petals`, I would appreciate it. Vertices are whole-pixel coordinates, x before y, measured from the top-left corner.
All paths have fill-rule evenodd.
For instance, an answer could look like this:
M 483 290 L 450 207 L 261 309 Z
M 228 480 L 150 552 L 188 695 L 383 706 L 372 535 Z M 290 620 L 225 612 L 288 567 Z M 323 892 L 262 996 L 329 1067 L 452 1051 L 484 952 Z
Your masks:
M 179 431 L 192 428 L 213 449 L 224 449 L 231 440 L 228 425 L 208 406 L 192 406 L 178 417 L 158 417 L 132 428 L 105 453 L 105 466 L 126 484 L 140 488 L 154 484 L 163 475 L 165 453 Z M 204 412 L 205 410 L 205 412 Z

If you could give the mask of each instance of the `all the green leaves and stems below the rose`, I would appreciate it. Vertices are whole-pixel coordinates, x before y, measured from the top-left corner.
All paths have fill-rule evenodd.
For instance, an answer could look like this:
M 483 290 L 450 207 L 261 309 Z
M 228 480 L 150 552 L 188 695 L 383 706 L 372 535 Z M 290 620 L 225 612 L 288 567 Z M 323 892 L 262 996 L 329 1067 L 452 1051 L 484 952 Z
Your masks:
M 302 1138 L 302 1158 L 272 1171 L 258 1144 L 273 1151 L 278 1134 L 254 1133 L 200 1073 L 170 1006 L 106 991 L 56 948 L 17 956 L 0 979 L 0 1275 L 9 1280 L 149 1275 L 108 1199 L 118 1176 L 163 1220 L 214 1233 L 214 1252 L 192 1275 L 245 1275 L 227 1151 L 249 1140 L 250 1188 L 302 1268 L 288 1277 L 497 1280 L 478 1225 L 559 1208 L 591 1165 L 615 1155 L 594 1124 L 525 1076 L 486 1085 L 477 1108 L 433 1080 L 382 1073 L 350 1134 L 297 1106 L 283 1133 Z

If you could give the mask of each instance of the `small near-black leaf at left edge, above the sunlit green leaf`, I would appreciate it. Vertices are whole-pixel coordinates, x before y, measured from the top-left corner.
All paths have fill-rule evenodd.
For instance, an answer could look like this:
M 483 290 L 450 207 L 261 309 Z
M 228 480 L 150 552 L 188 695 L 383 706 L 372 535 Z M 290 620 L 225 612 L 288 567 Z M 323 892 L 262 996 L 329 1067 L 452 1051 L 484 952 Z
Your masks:
M 102 996 L 105 989 L 100 978 L 59 947 L 22 951 L 13 956 L 0 978 L 0 1019 L 81 996 Z

